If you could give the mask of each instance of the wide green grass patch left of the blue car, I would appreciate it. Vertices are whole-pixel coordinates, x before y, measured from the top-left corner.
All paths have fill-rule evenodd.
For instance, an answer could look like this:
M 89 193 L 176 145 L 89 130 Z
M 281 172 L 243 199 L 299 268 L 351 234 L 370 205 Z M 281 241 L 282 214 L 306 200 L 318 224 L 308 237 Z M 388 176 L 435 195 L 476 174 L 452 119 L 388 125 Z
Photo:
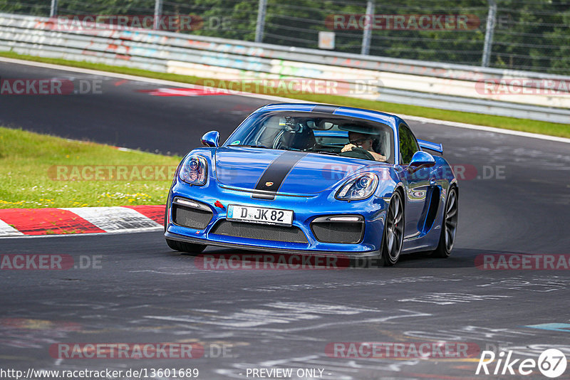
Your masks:
M 167 169 L 173 170 L 178 162 L 180 157 L 123 152 L 103 144 L 0 127 L 0 209 L 165 204 L 172 182 Z M 163 173 L 147 169 L 137 176 L 133 165 L 166 168 Z M 91 171 L 95 166 L 114 168 L 103 169 L 98 176 L 114 174 L 114 179 L 79 180 L 95 175 Z M 86 177 L 81 171 L 73 175 L 73 167 L 88 167 Z M 126 174 L 116 180 L 119 167 L 126 168 Z M 152 176 L 152 172 L 158 174 Z M 139 180 L 142 176 L 151 179 Z

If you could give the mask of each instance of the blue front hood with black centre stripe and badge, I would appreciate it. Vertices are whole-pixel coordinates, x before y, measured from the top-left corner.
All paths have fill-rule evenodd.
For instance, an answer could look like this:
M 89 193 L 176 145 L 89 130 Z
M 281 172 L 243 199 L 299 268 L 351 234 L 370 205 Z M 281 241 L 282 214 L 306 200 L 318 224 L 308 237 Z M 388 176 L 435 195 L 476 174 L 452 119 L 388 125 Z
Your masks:
M 241 189 L 314 194 L 379 162 L 277 149 L 221 147 L 215 154 L 219 184 Z

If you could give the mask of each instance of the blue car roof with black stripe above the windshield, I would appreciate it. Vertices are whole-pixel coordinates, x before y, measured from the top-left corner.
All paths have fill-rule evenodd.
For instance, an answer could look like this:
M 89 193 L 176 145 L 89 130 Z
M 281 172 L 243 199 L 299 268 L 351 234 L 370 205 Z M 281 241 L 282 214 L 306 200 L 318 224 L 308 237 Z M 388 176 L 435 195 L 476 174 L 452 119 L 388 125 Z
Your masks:
M 324 105 L 317 103 L 276 103 L 264 105 L 259 107 L 256 112 L 267 112 L 267 111 L 296 111 L 296 112 L 319 112 L 319 113 L 330 113 L 331 115 L 346 116 L 346 117 L 356 117 L 363 120 L 371 120 L 373 122 L 380 122 L 384 125 L 392 127 L 396 132 L 400 122 L 406 124 L 406 122 L 396 115 L 391 115 L 389 113 L 365 110 L 363 108 L 356 107 L 344 107 L 340 105 Z

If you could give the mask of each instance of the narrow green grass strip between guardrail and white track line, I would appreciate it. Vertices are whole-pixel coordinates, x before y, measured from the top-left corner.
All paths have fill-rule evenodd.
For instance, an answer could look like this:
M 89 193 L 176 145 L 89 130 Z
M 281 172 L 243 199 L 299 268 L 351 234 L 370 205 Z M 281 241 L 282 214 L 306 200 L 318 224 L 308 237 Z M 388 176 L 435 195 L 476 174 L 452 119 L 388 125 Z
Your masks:
M 219 83 L 218 80 L 214 79 L 211 80 L 208 78 L 198 78 L 189 75 L 156 73 L 154 71 L 140 70 L 136 68 L 126 68 L 120 66 L 103 65 L 100 63 L 63 60 L 58 58 L 41 58 L 34 56 L 24 56 L 13 52 L 0 52 L 0 56 L 25 59 L 25 60 L 34 60 L 37 62 L 54 63 L 58 65 L 68 65 L 78 68 L 90 68 L 93 70 L 102 70 L 111 73 L 138 75 L 146 78 L 173 80 L 176 82 L 190 83 L 195 85 L 204 84 L 204 80 L 207 80 L 208 85 L 210 85 L 212 82 Z M 239 89 L 239 87 L 232 89 Z M 259 91 L 257 91 L 257 93 L 265 93 L 267 95 L 289 97 L 292 99 L 308 100 L 310 102 L 323 102 L 323 103 L 331 103 L 337 105 L 346 105 L 350 107 L 362 107 L 362 108 L 368 108 L 370 110 L 379 110 L 383 112 L 395 113 L 400 115 L 415 115 L 415 116 L 428 117 L 438 120 L 448 120 L 452 122 L 465 122 L 475 125 L 486 125 L 489 127 L 504 128 L 507 130 L 550 134 L 552 136 L 559 136 L 559 137 L 570 137 L 569 125 L 558 124 L 553 122 L 541 122 L 537 120 L 516 119 L 514 117 L 482 115 L 471 112 L 438 110 L 436 108 L 419 107 L 415 105 L 400 105 L 390 102 L 378 102 L 375 100 L 361 100 L 353 97 L 344 97 L 338 95 L 291 94 L 291 93 L 285 93 L 284 91 L 281 92 L 276 91 L 274 88 L 260 88 Z

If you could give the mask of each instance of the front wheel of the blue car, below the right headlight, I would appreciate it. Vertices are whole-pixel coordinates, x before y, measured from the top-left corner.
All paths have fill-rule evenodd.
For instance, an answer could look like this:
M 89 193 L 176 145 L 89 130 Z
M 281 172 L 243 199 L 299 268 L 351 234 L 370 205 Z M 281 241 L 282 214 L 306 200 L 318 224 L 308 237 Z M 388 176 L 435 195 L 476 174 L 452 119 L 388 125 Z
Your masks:
M 394 191 L 386 211 L 380 266 L 398 263 L 404 242 L 404 201 L 400 191 Z

